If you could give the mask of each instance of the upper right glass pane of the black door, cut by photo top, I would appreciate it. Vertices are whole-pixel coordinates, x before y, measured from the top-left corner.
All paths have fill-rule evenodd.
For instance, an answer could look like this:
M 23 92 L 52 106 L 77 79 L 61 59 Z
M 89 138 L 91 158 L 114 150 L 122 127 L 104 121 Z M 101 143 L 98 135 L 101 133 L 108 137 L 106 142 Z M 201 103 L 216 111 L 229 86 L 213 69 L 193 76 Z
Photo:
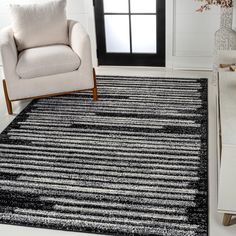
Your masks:
M 156 13 L 156 0 L 130 0 L 130 8 L 131 13 Z

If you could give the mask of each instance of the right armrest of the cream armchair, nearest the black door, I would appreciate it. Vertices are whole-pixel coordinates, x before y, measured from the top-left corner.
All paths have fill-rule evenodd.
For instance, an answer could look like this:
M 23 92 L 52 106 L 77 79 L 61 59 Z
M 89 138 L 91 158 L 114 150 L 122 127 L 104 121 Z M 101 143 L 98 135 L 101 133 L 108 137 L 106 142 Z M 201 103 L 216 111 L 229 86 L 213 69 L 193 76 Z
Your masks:
M 68 26 L 70 46 L 81 59 L 79 71 L 86 71 L 88 69 L 92 71 L 93 65 L 89 35 L 79 22 L 68 20 Z

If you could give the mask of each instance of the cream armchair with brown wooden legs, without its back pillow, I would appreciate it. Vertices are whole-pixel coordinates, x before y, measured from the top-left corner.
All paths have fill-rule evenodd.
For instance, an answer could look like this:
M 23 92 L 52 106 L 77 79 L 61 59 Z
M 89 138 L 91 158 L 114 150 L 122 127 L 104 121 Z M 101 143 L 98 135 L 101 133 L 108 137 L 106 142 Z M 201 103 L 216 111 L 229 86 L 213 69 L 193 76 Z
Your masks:
M 49 45 L 17 51 L 10 27 L 0 32 L 0 52 L 8 113 L 11 102 L 92 90 L 97 100 L 88 34 L 80 23 L 68 20 L 69 45 Z

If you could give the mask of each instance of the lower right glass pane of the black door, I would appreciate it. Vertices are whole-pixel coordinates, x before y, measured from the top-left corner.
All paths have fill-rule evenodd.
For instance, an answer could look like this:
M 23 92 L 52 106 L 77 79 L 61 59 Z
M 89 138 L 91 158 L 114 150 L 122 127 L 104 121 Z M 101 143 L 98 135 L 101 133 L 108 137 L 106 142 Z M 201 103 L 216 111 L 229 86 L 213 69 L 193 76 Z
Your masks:
M 134 53 L 156 53 L 156 16 L 131 16 Z

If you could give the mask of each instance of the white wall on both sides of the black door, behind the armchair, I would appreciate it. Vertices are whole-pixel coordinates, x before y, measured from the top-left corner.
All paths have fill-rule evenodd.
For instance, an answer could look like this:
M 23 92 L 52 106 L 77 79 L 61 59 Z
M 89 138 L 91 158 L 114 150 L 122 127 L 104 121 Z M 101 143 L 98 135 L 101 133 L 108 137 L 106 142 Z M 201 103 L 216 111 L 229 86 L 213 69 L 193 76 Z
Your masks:
M 0 28 L 10 24 L 11 2 L 47 0 L 1 0 Z M 92 0 L 67 0 L 68 18 L 79 20 L 90 34 L 96 65 L 96 37 Z M 166 0 L 166 65 L 170 68 L 210 69 L 213 61 L 214 33 L 219 28 L 219 8 L 197 13 L 195 0 Z M 235 24 L 236 25 L 236 24 Z

